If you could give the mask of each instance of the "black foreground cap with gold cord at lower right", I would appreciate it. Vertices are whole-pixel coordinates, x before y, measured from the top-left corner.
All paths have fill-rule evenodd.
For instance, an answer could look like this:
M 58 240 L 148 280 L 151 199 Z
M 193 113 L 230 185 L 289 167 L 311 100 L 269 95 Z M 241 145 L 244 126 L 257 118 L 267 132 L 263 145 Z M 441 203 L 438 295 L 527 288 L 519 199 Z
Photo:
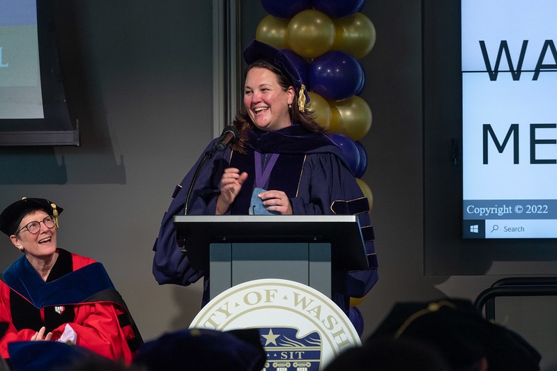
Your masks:
M 366 342 L 411 338 L 438 349 L 456 370 L 482 358 L 492 370 L 540 370 L 540 354 L 510 329 L 489 322 L 466 299 L 397 303 Z

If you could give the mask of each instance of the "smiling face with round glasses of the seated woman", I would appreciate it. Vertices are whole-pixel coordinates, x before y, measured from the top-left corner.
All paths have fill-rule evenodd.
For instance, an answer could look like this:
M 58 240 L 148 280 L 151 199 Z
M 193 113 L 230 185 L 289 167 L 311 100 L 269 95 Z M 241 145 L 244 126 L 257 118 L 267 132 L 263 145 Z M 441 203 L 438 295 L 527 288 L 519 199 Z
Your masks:
M 47 216 L 48 214 L 43 210 L 36 210 L 26 214 L 17 229 L 20 230 L 20 228 L 23 228 L 31 221 L 38 221 L 40 230 L 33 235 L 27 228 L 23 228 L 17 235 L 11 235 L 10 239 L 15 247 L 34 258 L 47 258 L 54 254 L 56 251 L 56 228 L 45 226 L 43 220 Z

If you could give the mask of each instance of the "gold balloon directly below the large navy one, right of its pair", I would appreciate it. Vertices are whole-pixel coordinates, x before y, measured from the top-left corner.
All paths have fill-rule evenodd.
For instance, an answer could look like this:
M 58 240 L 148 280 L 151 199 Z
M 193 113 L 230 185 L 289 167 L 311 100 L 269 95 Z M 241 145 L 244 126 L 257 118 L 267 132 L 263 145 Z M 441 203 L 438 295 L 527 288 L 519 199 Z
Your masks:
M 338 102 L 329 101 L 329 105 L 332 113 L 329 131 L 345 134 L 353 141 L 359 141 L 371 129 L 372 109 L 358 95 Z

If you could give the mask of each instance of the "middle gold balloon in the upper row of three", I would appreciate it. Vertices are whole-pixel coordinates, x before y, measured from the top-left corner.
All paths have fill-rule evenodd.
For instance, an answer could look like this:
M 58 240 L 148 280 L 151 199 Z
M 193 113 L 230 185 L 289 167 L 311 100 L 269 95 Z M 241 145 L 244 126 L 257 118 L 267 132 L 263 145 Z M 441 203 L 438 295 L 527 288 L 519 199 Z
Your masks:
M 335 24 L 325 13 L 306 9 L 294 15 L 288 24 L 287 42 L 300 56 L 315 58 L 333 47 Z

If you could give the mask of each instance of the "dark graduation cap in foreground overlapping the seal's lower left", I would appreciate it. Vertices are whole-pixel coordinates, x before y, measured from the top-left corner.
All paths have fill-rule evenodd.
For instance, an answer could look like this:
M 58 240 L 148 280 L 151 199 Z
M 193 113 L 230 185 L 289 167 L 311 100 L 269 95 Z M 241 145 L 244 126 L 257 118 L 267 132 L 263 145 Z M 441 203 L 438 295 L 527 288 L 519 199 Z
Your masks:
M 149 371 L 259 371 L 265 361 L 258 329 L 186 329 L 146 342 L 139 348 L 133 365 Z

